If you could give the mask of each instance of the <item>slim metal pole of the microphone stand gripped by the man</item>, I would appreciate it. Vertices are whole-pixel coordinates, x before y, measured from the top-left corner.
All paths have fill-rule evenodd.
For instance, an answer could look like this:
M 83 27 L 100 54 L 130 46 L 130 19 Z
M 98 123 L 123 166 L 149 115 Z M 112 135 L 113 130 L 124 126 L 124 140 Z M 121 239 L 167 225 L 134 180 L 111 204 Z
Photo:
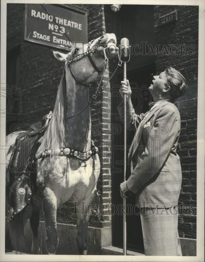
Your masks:
M 127 81 L 127 74 L 126 74 L 126 62 L 124 62 L 124 77 L 123 80 Z M 126 129 L 126 100 L 127 95 L 124 95 L 124 181 L 126 181 L 126 146 L 127 146 L 127 129 Z M 123 205 L 124 205 L 124 211 L 126 212 L 126 197 L 123 195 Z M 126 224 L 126 215 L 125 212 L 123 213 L 123 255 L 127 255 L 127 224 Z

